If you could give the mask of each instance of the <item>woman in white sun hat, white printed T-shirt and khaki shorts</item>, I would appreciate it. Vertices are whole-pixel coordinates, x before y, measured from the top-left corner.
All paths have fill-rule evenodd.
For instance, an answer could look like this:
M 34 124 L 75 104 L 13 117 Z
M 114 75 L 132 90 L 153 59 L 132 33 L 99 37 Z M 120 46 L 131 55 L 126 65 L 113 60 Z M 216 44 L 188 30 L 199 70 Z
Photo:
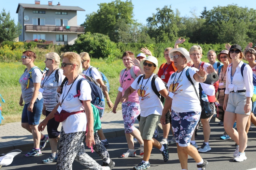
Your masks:
M 169 159 L 168 145 L 159 143 L 153 138 L 154 131 L 160 121 L 163 105 L 159 97 L 155 94 L 152 88 L 152 79 L 155 73 L 158 72 L 158 61 L 153 56 L 147 56 L 145 60 L 140 62 L 141 67 L 145 72 L 144 75 L 139 75 L 130 87 L 125 90 L 120 102 L 126 102 L 132 99 L 130 94 L 137 90 L 140 100 L 141 118 L 140 118 L 140 133 L 144 141 L 144 156 L 141 163 L 133 167 L 134 170 L 150 168 L 149 158 L 152 147 L 156 147 L 163 155 L 164 162 Z M 157 91 L 163 96 L 168 95 L 168 90 L 163 81 L 155 78 L 154 82 Z

